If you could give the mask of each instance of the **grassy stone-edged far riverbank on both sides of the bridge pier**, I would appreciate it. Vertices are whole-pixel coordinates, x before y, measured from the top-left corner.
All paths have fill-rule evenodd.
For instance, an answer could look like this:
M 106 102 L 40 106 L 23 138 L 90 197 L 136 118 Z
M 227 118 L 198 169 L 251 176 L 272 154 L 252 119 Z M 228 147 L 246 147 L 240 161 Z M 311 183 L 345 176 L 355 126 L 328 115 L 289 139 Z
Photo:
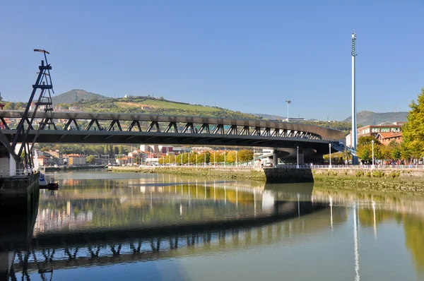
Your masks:
M 196 167 L 110 167 L 113 172 L 177 174 L 264 183 L 314 182 L 326 189 L 424 192 L 420 169 L 229 169 Z

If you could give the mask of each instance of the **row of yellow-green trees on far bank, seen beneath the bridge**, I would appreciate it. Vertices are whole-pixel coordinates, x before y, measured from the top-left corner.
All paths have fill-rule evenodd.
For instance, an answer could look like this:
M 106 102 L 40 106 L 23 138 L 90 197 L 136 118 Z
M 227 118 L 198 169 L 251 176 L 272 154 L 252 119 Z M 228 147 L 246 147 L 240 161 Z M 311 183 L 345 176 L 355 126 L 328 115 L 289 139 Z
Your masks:
M 216 151 L 216 152 L 203 152 L 203 153 L 181 153 L 179 155 L 166 155 L 159 158 L 160 165 L 177 164 L 187 165 L 201 165 L 213 163 L 226 163 L 235 164 L 242 162 L 249 162 L 253 160 L 252 150 L 230 150 L 230 151 Z

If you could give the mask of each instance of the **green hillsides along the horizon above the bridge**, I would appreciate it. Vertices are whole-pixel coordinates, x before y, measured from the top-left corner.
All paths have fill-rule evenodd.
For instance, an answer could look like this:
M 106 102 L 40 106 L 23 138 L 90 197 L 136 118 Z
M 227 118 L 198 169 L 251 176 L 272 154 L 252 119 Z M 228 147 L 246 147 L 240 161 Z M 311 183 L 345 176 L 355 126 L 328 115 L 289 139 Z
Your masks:
M 204 106 L 201 104 L 188 104 L 186 102 L 175 102 L 165 100 L 163 97 L 129 96 L 123 98 L 112 98 L 98 95 L 86 90 L 69 90 L 61 95 L 53 97 L 54 107 L 76 107 L 82 112 L 110 112 L 110 113 L 135 113 L 135 114 L 160 114 L 160 115 L 189 115 L 189 116 L 212 116 L 235 119 L 269 119 L 281 120 L 282 116 L 271 114 L 249 114 L 221 107 Z M 22 110 L 24 102 L 4 102 L 4 109 Z M 370 124 L 380 124 L 384 121 L 406 121 L 407 112 L 359 112 L 358 127 Z M 351 117 L 343 121 L 297 121 L 300 124 L 310 124 L 335 128 L 345 133 L 351 131 Z

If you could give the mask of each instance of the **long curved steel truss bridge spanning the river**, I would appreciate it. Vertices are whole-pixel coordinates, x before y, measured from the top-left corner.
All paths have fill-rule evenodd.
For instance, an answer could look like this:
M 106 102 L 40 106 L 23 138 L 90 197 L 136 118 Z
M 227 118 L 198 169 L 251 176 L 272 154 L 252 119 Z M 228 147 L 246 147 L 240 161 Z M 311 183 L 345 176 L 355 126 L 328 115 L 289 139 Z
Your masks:
M 24 116 L 21 111 L 0 111 L 1 131 L 8 140 L 16 135 L 11 119 L 20 120 Z M 38 121 L 46 119 L 45 112 L 36 112 L 34 116 L 34 123 L 30 125 L 27 118 L 25 126 L 30 128 L 27 141 L 36 139 L 37 143 L 146 143 L 269 148 L 299 146 L 326 153 L 331 141 L 345 136 L 342 131 L 331 128 L 254 119 L 51 112 L 50 126 L 45 122 L 36 125 Z

